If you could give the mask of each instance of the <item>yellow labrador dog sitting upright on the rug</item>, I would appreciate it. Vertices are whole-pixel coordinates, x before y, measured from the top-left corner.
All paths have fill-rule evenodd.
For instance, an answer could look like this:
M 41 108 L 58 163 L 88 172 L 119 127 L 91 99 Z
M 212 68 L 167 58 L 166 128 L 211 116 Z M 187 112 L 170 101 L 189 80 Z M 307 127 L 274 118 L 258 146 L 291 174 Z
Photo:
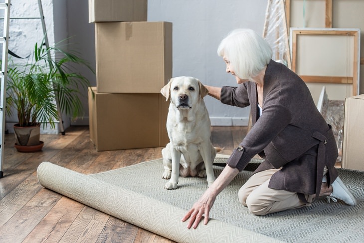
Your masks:
M 170 143 L 162 150 L 165 188 L 176 189 L 179 175 L 207 176 L 211 185 L 215 176 L 212 163 L 216 149 L 210 142 L 210 118 L 203 97 L 208 90 L 193 77 L 175 77 L 161 89 L 166 101 L 171 97 L 167 116 Z

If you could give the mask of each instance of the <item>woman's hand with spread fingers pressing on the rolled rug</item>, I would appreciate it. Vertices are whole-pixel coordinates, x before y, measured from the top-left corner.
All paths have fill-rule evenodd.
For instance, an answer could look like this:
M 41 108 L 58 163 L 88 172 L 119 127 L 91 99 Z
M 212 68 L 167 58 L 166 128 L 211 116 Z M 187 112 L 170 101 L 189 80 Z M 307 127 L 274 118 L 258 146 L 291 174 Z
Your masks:
M 193 207 L 182 218 L 182 222 L 190 218 L 187 225 L 188 229 L 190 229 L 191 226 L 193 227 L 193 229 L 196 229 L 198 223 L 202 220 L 203 216 L 204 216 L 203 224 L 204 225 L 207 224 L 208 214 L 216 198 L 216 196 L 212 196 L 209 191 L 210 190 L 207 189 L 207 191 L 202 195 L 202 197 L 196 203 L 193 204 Z

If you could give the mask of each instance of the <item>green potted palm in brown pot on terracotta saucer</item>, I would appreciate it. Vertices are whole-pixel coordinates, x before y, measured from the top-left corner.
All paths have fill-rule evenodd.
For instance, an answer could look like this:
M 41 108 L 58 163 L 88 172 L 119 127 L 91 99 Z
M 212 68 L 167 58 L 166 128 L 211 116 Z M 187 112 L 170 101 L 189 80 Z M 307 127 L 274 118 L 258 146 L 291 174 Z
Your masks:
M 82 116 L 78 95 L 90 83 L 73 66 L 81 64 L 94 71 L 78 53 L 65 51 L 58 45 L 46 47 L 35 43 L 25 63 L 8 65 L 6 113 L 11 115 L 14 110 L 17 113 L 14 134 L 15 147 L 20 152 L 42 148 L 40 125 L 54 128 L 59 111 L 72 118 Z

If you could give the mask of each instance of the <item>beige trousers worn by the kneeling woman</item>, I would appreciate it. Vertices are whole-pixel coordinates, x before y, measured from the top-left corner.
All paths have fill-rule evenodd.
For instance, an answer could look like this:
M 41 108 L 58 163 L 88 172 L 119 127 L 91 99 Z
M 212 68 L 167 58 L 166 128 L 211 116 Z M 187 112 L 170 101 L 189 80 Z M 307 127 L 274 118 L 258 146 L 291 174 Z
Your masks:
M 266 215 L 287 209 L 299 209 L 310 206 L 302 202 L 297 193 L 285 190 L 271 189 L 268 187 L 272 175 L 280 169 L 270 169 L 252 175 L 240 188 L 238 197 L 240 203 L 247 206 L 249 211 L 255 215 Z M 327 173 L 324 168 L 324 175 Z M 312 202 L 315 195 L 306 195 L 306 200 Z

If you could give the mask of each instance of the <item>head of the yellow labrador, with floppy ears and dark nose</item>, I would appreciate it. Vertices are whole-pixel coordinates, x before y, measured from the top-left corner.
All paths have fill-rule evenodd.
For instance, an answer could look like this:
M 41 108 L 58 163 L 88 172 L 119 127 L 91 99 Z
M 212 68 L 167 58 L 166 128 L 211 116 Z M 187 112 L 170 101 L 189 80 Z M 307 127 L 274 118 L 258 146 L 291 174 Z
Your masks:
M 199 98 L 207 95 L 208 90 L 194 77 L 171 78 L 166 86 L 161 89 L 166 101 L 171 96 L 171 102 L 178 109 L 191 109 Z

